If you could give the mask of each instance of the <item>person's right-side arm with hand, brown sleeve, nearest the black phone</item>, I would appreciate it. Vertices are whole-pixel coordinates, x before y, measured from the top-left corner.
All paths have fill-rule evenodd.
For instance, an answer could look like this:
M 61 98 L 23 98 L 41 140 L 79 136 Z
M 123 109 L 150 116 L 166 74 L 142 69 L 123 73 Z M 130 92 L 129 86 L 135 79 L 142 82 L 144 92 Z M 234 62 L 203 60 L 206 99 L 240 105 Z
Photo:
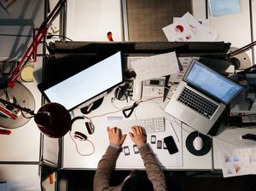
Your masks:
M 148 179 L 152 182 L 154 190 L 167 190 L 166 187 L 166 177 L 164 176 L 163 171 L 160 169 L 160 165 L 157 163 L 157 160 L 154 157 L 151 149 L 146 143 L 145 136 L 143 135 L 143 129 L 139 126 L 131 127 L 132 133 L 130 133 L 131 140 L 139 148 L 143 163 L 146 168 Z

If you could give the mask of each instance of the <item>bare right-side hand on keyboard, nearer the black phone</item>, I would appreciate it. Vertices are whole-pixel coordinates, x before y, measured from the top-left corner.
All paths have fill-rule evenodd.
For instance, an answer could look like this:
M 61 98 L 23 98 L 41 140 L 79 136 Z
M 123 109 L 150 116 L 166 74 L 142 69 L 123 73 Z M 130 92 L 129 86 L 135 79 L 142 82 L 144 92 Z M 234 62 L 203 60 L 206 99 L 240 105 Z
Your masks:
M 130 132 L 131 141 L 134 142 L 137 147 L 143 146 L 146 142 L 146 136 L 144 130 L 141 126 L 131 127 L 132 132 Z

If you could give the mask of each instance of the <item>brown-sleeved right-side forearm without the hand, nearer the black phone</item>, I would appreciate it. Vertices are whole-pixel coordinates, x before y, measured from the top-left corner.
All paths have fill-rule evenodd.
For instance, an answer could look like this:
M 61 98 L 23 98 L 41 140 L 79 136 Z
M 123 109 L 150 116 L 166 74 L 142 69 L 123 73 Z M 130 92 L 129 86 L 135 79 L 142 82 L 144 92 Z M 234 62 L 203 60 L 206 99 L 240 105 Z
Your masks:
M 139 151 L 148 174 L 148 179 L 152 182 L 154 190 L 167 190 L 166 177 L 164 176 L 163 171 L 161 171 L 160 165 L 157 163 L 154 153 L 152 153 L 148 144 L 139 148 Z

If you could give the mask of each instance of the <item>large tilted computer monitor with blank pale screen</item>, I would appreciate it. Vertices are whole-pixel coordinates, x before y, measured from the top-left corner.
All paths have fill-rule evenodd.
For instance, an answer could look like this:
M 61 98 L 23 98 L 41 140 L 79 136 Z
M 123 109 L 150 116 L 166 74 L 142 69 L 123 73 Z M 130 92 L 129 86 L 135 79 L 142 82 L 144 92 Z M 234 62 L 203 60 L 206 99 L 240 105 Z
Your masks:
M 60 103 L 70 111 L 102 98 L 122 82 L 122 55 L 119 51 L 57 84 L 38 84 L 38 89 L 47 101 Z

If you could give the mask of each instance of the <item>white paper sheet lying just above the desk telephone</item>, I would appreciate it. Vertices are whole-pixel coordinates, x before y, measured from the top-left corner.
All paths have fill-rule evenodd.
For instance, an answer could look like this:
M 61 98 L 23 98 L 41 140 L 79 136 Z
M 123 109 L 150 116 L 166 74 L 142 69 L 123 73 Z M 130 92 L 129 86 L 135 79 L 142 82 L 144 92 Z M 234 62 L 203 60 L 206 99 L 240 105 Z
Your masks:
M 131 62 L 131 66 L 137 74 L 137 81 L 159 78 L 179 72 L 175 52 L 144 57 Z

